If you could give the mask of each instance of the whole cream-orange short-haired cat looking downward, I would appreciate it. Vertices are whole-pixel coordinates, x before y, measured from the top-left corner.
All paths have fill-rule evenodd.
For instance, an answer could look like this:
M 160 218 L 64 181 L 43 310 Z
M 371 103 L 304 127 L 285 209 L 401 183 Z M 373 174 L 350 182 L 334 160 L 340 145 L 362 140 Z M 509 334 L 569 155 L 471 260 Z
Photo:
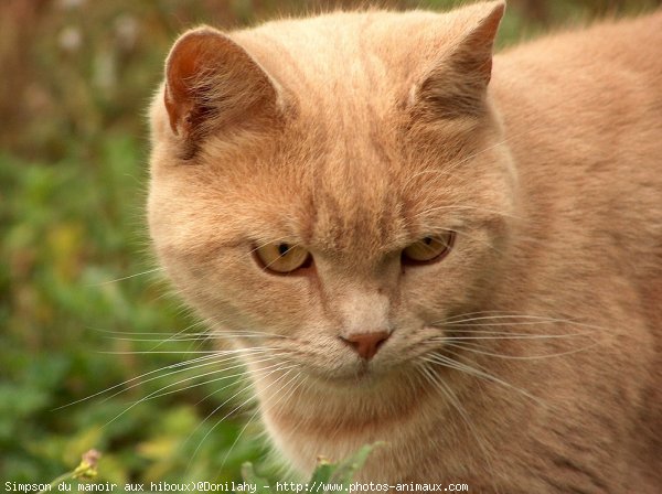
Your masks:
M 160 262 L 292 468 L 662 490 L 662 12 L 493 55 L 503 1 L 174 43 Z

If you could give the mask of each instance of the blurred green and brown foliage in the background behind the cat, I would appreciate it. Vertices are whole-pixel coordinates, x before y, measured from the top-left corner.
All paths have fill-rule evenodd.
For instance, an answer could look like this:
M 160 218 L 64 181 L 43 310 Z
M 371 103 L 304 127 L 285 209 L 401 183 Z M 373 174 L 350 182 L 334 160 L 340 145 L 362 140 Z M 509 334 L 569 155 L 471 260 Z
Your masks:
M 659 3 L 512 0 L 500 43 Z M 145 108 L 186 26 L 355 4 L 0 2 L 0 479 L 47 482 L 90 448 L 116 482 L 239 480 L 261 458 L 253 411 L 235 411 L 245 396 L 173 367 L 210 348 L 169 339 L 201 329 L 150 259 Z

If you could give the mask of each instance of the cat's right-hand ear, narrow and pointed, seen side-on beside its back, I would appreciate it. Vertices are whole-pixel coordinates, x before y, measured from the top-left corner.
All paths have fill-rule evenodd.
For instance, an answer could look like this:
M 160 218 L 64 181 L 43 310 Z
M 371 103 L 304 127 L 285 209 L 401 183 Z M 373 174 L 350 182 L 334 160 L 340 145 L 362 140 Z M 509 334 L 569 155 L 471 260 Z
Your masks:
M 460 11 L 457 42 L 412 89 L 418 114 L 430 120 L 483 115 L 494 39 L 504 10 L 505 2 L 500 0 Z

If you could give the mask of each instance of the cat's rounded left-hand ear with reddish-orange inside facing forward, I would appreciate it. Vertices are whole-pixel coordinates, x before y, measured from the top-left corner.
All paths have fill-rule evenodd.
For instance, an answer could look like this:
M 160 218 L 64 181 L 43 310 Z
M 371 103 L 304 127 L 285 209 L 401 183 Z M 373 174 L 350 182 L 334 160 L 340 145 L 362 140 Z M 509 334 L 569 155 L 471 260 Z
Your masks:
M 215 29 L 184 33 L 166 62 L 170 127 L 194 141 L 226 125 L 248 125 L 276 111 L 278 89 L 237 43 Z

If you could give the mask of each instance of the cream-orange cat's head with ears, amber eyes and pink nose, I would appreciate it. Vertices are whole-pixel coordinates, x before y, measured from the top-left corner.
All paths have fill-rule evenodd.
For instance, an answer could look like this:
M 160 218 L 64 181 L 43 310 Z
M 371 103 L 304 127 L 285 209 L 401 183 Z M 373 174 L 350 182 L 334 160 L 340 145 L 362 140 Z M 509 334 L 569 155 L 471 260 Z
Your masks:
M 151 110 L 149 224 L 213 331 L 342 385 L 421 358 L 489 297 L 515 207 L 488 89 L 502 13 L 177 41 Z

